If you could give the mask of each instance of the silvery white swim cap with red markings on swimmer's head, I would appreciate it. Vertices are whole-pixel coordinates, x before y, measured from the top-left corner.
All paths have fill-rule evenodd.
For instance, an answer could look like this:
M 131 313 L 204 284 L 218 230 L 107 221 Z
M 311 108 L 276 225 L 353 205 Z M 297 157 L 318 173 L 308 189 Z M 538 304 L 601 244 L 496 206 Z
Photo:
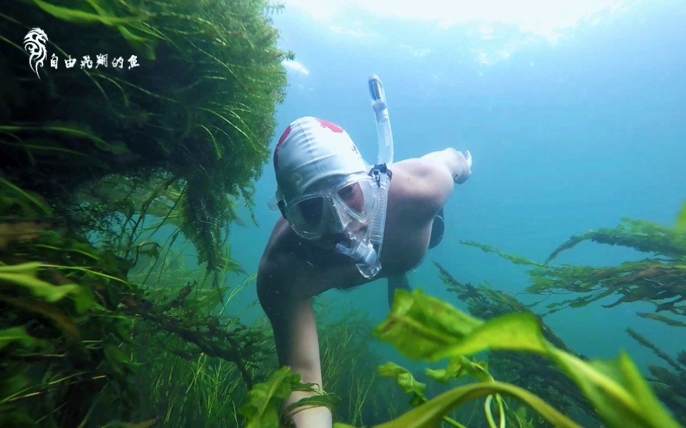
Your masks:
M 286 204 L 369 168 L 343 128 L 311 116 L 291 122 L 274 151 L 279 200 Z

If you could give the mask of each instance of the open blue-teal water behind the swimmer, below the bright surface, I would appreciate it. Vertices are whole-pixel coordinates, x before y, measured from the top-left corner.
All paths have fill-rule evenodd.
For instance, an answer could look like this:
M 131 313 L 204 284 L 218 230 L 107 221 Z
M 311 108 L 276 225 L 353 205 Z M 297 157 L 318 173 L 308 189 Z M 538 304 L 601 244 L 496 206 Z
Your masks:
M 543 261 L 570 236 L 617 226 L 625 216 L 669 226 L 686 200 L 686 3 L 615 3 L 622 7 L 561 30 L 555 42 L 512 24 L 441 28 L 363 11 L 321 19 L 287 3 L 274 16 L 281 46 L 308 73 L 289 68 L 272 148 L 290 121 L 312 115 L 343 126 L 373 161 L 376 129 L 366 79 L 378 74 L 396 160 L 448 146 L 474 156 L 472 177 L 445 207 L 443 243 L 411 272 L 411 283 L 464 307 L 445 291 L 437 261 L 459 281 L 522 292 L 524 268 L 458 241 Z M 274 191 L 269 164 L 257 183 L 258 226 L 232 231 L 232 245 L 241 249 L 234 257 L 248 272 L 257 270 L 279 216 L 267 207 Z M 557 263 L 602 266 L 640 257 L 584 243 Z M 251 285 L 236 300 L 248 322 L 264 317 L 255 299 Z M 380 322 L 387 314 L 385 281 L 330 291 L 319 302 L 334 317 L 354 307 Z M 635 315 L 646 309 L 652 312 L 642 303 L 594 304 L 546 322 L 579 353 L 611 357 L 626 349 L 646 367 L 656 357 L 625 333 L 627 326 L 671 355 L 686 342 L 680 329 Z M 380 349 L 402 361 L 394 350 Z

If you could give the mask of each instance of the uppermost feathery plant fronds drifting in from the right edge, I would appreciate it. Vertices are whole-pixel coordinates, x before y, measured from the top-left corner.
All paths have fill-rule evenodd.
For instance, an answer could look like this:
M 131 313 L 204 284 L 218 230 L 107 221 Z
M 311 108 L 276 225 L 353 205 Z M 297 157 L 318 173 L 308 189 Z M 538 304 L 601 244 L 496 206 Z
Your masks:
M 655 256 L 637 262 L 624 262 L 617 267 L 549 264 L 560 252 L 570 250 L 584 240 L 631 247 Z M 675 228 L 659 226 L 649 221 L 623 219 L 615 229 L 603 228 L 572 236 L 553 251 L 546 263 L 507 255 L 480 243 L 462 243 L 479 247 L 486 252 L 495 252 L 515 264 L 531 266 L 532 269 L 527 271 L 532 284 L 526 289 L 529 293 L 581 294 L 578 298 L 551 303 L 547 306 L 550 309 L 548 313 L 565 307 L 582 307 L 610 295 L 619 295 L 618 300 L 603 307 L 640 300 L 654 304 L 656 312 L 666 311 L 678 316 L 686 314 L 686 307 L 680 305 L 680 302 L 686 300 L 686 233 L 680 233 Z M 673 320 L 669 317 L 656 319 L 666 323 Z

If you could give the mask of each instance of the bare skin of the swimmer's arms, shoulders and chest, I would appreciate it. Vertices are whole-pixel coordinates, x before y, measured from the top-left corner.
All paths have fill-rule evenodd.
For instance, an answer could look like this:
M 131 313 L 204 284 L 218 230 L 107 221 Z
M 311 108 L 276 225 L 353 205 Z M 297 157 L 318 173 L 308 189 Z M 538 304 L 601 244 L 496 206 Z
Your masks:
M 303 240 L 280 218 L 274 226 L 258 270 L 260 305 L 274 331 L 280 365 L 301 375 L 301 381 L 321 386 L 319 341 L 312 298 L 332 288 L 352 288 L 380 278 L 397 278 L 414 269 L 426 255 L 436 213 L 450 197 L 455 183 L 469 177 L 471 155 L 448 148 L 392 165 L 388 192 L 382 270 L 363 278 L 351 259 Z M 286 405 L 311 396 L 291 394 Z M 298 428 L 332 426 L 324 407 L 299 408 Z

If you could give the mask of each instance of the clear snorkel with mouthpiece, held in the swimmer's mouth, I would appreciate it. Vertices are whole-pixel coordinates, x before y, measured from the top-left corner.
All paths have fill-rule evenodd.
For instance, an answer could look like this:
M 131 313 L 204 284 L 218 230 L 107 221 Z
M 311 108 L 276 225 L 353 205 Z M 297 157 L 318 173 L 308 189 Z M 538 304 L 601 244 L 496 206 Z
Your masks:
M 367 227 L 368 240 L 351 237 L 347 245 L 344 243 L 336 245 L 338 252 L 355 260 L 355 266 L 366 279 L 373 278 L 381 270 L 380 255 L 383 245 L 383 231 L 386 225 L 388 188 L 390 188 L 391 179 L 391 172 L 388 169 L 393 164 L 393 135 L 388 117 L 386 95 L 378 75 L 374 74 L 369 77 L 369 93 L 376 115 L 379 140 L 377 164 L 369 173 L 379 187 L 378 212 Z

